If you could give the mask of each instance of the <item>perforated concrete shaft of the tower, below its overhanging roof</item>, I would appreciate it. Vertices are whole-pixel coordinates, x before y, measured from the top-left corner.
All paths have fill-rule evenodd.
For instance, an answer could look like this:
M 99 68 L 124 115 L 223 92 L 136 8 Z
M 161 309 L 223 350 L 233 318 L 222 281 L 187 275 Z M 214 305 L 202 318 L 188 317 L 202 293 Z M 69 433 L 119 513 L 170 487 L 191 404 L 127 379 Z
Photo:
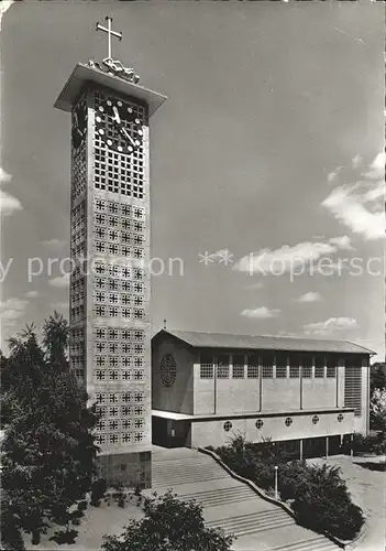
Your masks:
M 108 106 L 119 101 L 122 123 L 134 112 L 143 131 L 131 153 L 110 148 L 98 131 L 117 138 Z M 82 143 L 71 149 L 70 366 L 101 413 L 101 462 L 110 465 L 114 454 L 131 465 L 152 443 L 148 114 L 140 100 L 88 84 L 73 125 L 84 117 Z

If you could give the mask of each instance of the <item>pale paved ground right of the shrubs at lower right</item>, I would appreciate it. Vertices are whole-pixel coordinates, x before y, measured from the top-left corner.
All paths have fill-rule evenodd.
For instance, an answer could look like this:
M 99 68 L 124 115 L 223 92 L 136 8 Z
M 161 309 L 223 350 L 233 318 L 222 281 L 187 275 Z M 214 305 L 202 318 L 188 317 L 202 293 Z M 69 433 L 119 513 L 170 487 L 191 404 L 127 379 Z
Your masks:
M 368 530 L 355 551 L 385 551 L 386 528 L 386 472 L 374 471 L 381 457 L 350 457 L 338 455 L 329 460 L 310 460 L 342 468 L 353 501 L 366 516 Z

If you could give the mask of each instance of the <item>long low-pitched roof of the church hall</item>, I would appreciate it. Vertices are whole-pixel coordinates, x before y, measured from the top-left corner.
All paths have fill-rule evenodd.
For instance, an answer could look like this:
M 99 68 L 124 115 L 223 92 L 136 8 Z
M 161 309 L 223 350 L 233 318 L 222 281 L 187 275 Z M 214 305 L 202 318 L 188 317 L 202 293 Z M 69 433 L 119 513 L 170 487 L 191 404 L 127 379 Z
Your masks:
M 256 350 L 374 354 L 373 350 L 351 343 L 350 341 L 324 341 L 319 338 L 279 337 L 269 335 L 233 335 L 227 333 L 201 333 L 175 329 L 162 329 L 155 336 L 163 333 L 173 335 L 190 346 L 200 348 L 247 348 Z

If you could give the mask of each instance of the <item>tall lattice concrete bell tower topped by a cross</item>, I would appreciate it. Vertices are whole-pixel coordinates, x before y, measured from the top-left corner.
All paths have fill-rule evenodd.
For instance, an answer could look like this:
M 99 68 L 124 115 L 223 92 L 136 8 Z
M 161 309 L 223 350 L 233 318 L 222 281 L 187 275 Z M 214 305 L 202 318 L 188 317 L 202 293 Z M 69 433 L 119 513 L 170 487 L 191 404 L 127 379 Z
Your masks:
M 100 476 L 150 487 L 148 121 L 166 97 L 113 60 L 78 63 L 55 107 L 71 114 L 70 367 L 101 413 Z

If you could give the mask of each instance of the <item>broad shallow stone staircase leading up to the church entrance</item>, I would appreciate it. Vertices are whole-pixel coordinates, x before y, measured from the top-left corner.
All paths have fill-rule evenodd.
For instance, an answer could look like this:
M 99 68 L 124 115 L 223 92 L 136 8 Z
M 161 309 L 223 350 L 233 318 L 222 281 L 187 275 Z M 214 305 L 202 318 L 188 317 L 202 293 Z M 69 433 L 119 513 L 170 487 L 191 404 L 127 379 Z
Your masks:
M 234 551 L 338 551 L 324 536 L 296 525 L 280 507 L 266 501 L 232 478 L 212 457 L 187 447 L 154 446 L 151 495 L 173 489 L 184 500 L 202 506 L 208 527 L 238 539 Z

